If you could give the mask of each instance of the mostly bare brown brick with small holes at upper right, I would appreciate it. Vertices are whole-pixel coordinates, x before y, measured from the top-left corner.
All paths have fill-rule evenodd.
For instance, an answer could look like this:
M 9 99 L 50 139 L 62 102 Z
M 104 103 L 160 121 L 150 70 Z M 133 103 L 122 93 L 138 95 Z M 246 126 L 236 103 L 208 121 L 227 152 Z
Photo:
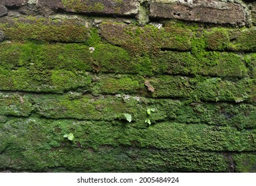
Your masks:
M 150 3 L 150 17 L 182 19 L 215 24 L 245 25 L 245 11 L 237 3 L 197 1 L 196 3 Z

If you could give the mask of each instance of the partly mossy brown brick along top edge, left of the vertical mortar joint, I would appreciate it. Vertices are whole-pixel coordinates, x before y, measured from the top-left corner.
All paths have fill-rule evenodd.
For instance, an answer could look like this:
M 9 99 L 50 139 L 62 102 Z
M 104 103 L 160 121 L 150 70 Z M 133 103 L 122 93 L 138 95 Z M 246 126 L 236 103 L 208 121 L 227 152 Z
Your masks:
M 39 0 L 38 5 L 76 13 L 99 13 L 104 15 L 136 15 L 138 13 L 138 1 L 135 0 Z

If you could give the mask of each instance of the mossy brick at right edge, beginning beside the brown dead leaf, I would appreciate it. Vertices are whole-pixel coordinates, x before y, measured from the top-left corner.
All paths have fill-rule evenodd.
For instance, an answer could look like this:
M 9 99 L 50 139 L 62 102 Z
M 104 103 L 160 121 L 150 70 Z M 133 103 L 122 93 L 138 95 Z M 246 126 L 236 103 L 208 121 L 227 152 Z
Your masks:
M 205 101 L 251 101 L 255 96 L 255 80 L 242 79 L 237 82 L 221 78 L 188 78 L 184 76 L 158 76 L 149 79 L 154 87 L 155 98 L 190 98 Z

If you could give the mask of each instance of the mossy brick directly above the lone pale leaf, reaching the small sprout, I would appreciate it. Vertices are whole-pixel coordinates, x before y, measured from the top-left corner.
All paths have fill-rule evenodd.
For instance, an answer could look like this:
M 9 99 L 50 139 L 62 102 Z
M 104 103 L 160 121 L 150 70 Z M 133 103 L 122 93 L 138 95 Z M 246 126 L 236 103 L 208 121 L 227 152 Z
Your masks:
M 124 114 L 132 116 L 132 121 L 142 121 L 141 127 L 146 127 L 144 120 L 152 122 L 176 118 L 175 113 L 182 105 L 176 100 L 146 99 L 138 96 L 90 96 L 77 92 L 66 95 L 37 95 L 31 98 L 34 111 L 46 118 L 72 118 L 74 120 L 122 120 Z M 53 109 L 54 108 L 54 109 Z M 148 115 L 147 110 L 154 108 L 156 112 Z

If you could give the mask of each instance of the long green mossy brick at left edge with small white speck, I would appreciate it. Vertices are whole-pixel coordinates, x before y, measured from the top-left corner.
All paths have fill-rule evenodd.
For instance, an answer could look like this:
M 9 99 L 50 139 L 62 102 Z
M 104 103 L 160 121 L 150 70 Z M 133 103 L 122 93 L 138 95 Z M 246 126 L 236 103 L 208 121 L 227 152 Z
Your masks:
M 94 48 L 93 52 L 90 52 L 90 47 Z M 0 53 L 1 68 L 8 70 L 25 67 L 41 71 L 148 73 L 147 70 L 136 69 L 144 66 L 144 60 L 137 63 L 134 59 L 132 63 L 132 57 L 126 50 L 109 44 L 2 43 Z

